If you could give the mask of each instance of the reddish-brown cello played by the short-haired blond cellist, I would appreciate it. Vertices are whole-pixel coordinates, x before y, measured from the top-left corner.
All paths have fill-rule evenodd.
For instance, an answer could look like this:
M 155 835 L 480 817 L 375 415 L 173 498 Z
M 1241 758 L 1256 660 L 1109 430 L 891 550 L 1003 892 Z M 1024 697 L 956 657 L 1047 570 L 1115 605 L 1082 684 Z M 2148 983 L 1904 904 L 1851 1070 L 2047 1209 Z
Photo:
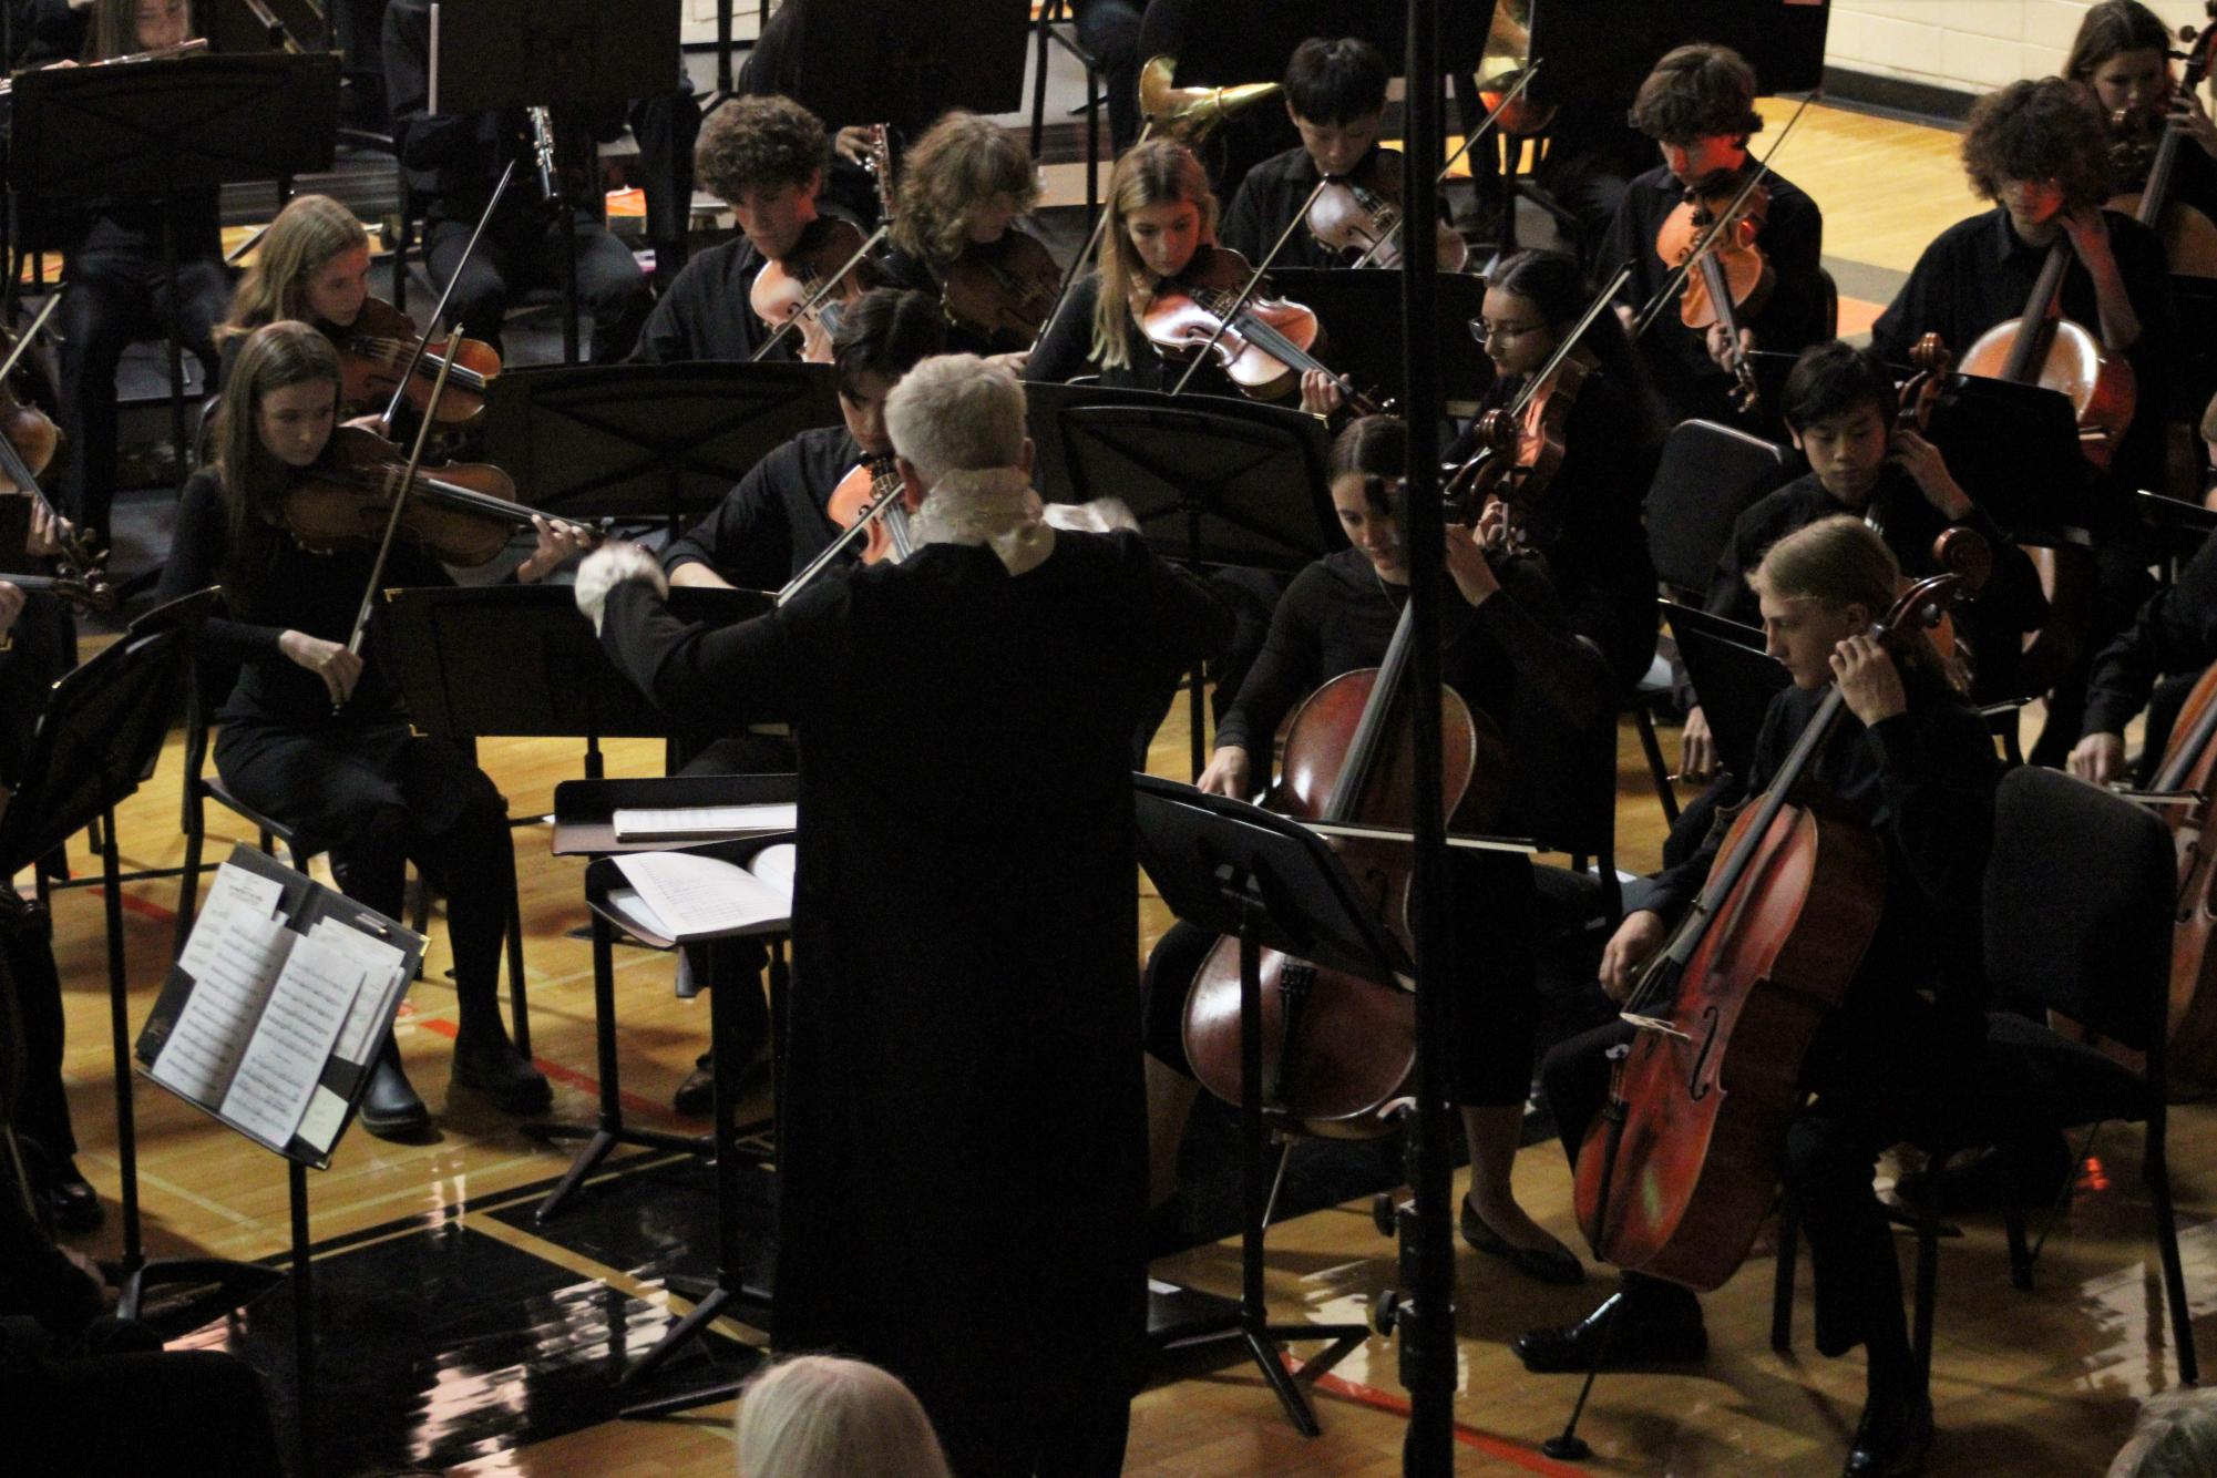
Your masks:
M 1871 634 L 1898 654 L 1962 596 L 1955 576 L 1918 581 Z M 1800 1061 L 1887 897 L 1871 831 L 1789 802 L 1845 709 L 1831 687 L 1625 1002 L 1638 1030 L 1576 1172 L 1579 1228 L 1607 1263 L 1712 1290 L 1771 1212 Z

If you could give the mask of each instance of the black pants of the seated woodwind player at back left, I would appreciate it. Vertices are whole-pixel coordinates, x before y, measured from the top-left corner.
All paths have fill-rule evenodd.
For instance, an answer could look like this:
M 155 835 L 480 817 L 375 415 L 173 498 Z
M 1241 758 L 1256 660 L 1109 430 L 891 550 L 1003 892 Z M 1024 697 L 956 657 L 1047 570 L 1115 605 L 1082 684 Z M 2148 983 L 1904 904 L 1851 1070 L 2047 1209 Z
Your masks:
M 510 186 L 514 188 L 514 186 Z M 621 363 L 632 352 L 654 301 L 632 253 L 588 215 L 572 213 L 576 237 L 576 310 L 592 324 L 592 363 Z M 477 222 L 435 219 L 423 228 L 432 281 L 446 288 Z M 501 317 L 525 288 L 561 290 L 563 230 L 539 211 L 508 211 L 486 228 L 477 255 L 461 270 L 448 317 L 472 339 L 501 346 Z

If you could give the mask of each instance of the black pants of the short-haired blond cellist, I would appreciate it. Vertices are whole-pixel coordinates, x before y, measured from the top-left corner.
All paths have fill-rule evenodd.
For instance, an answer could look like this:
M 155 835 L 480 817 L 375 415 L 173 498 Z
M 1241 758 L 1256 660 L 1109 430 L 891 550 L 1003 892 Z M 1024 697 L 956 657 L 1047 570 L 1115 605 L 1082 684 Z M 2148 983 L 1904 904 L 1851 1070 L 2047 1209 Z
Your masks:
M 1820 1035 L 1805 1081 L 1816 1097 L 1794 1115 L 1782 1146 L 1780 1179 L 1809 1239 L 1809 1270 L 1816 1276 L 1816 1345 L 1825 1354 L 1847 1354 L 1856 1345 L 1907 1347 L 1902 1316 L 1902 1270 L 1893 1256 L 1887 1214 L 1871 1192 L 1880 1150 L 1915 1139 L 1933 1121 L 1944 1097 L 1947 1072 L 1958 1081 L 1962 1055 L 1940 1048 L 1935 1026 L 1915 1006 L 1904 1008 L 1898 1028 L 1876 1033 Z M 1563 1041 L 1541 1064 L 1541 1092 L 1554 1110 L 1556 1130 L 1572 1170 L 1587 1126 L 1610 1099 L 1614 1046 L 1632 1041 L 1627 1022 L 1610 1022 Z M 1638 1274 L 1625 1274 L 1627 1287 Z

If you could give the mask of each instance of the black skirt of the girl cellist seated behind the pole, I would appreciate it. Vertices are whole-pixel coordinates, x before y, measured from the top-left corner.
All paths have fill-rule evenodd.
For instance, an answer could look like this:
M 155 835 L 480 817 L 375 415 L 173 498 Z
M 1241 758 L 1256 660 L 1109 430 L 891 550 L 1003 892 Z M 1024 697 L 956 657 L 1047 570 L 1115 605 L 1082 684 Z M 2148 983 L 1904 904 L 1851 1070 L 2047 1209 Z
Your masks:
M 1532 948 L 1539 895 L 1532 864 L 1512 853 L 1450 858 L 1454 957 L 1468 962 L 1454 995 L 1454 1101 L 1470 1108 L 1523 1104 L 1532 1090 L 1539 986 Z M 1193 1075 L 1184 1044 L 1186 995 L 1222 935 L 1173 924 L 1146 959 L 1140 1037 L 1148 1057 Z

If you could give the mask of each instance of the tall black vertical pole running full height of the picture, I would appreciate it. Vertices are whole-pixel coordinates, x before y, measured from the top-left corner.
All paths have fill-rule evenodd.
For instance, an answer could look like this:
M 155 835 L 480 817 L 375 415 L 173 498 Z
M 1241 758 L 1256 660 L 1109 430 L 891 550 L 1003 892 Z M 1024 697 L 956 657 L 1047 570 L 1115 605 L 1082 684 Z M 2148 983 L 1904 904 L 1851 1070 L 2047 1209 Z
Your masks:
M 1417 875 L 1417 1112 L 1410 1121 L 1410 1190 L 1414 1217 L 1401 1221 L 1401 1303 L 1392 1323 L 1401 1336 L 1401 1385 L 1410 1394 L 1401 1471 L 1419 1478 L 1454 1474 L 1454 1112 L 1448 1106 L 1448 1041 L 1457 977 L 1468 968 L 1448 946 L 1448 846 L 1439 782 L 1439 605 L 1445 581 L 1443 510 L 1439 501 L 1439 164 L 1441 131 L 1439 0 L 1410 0 L 1401 155 L 1401 343 L 1408 417 L 1406 538 L 1410 552 L 1410 636 L 1417 645 L 1414 725 Z

